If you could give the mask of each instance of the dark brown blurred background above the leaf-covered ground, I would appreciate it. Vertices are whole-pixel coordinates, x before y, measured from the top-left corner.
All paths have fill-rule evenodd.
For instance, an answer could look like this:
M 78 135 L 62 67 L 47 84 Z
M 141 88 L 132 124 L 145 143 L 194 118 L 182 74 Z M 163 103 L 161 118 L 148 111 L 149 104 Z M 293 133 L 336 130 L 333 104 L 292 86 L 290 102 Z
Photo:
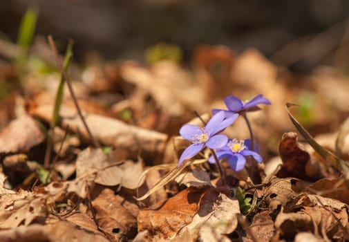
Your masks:
M 159 42 L 179 46 L 186 62 L 198 44 L 257 48 L 275 64 L 308 72 L 330 64 L 346 70 L 349 1 L 3 0 L 0 30 L 16 41 L 21 17 L 37 6 L 36 33 L 75 40 L 75 59 L 88 50 L 105 58 L 144 60 Z

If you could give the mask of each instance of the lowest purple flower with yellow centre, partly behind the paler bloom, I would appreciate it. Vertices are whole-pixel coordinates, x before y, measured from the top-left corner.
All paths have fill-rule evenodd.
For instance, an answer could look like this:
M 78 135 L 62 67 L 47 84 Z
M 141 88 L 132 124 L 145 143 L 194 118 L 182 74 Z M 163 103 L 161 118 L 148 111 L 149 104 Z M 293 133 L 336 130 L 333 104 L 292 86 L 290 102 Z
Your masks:
M 245 156 L 253 156 L 254 160 L 261 163 L 262 157 L 259 153 L 250 150 L 250 140 L 240 141 L 237 139 L 230 139 L 225 147 L 216 150 L 218 160 L 227 158 L 229 166 L 235 171 L 241 171 L 246 164 Z M 214 163 L 214 157 L 209 158 L 210 163 Z

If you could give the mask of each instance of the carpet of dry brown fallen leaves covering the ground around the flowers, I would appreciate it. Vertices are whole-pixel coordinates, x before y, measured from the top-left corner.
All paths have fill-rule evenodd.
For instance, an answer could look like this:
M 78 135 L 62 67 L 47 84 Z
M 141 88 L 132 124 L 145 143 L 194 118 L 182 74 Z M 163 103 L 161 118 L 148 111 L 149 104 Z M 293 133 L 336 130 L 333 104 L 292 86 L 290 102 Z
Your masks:
M 77 102 L 101 148 L 94 147 L 66 91 L 56 131 L 48 131 L 53 86 L 62 73 L 50 75 L 50 84 L 43 82 L 48 74 L 18 73 L 21 89 L 30 95 L 3 100 L 17 108 L 1 120 L 0 240 L 348 240 L 347 77 L 328 68 L 304 77 L 321 93 L 334 90 L 310 107 L 309 117 L 316 118 L 306 124 L 331 127 L 329 148 L 299 122 L 302 103 L 292 113 L 291 104 L 286 111 L 283 106 L 312 90 L 304 85 L 290 91 L 287 79 L 296 76 L 278 74 L 258 50 L 238 55 L 226 46 L 198 46 L 192 62 L 185 68 L 169 60 L 143 66 L 100 59 L 75 70 Z M 209 142 L 204 129 L 188 142 L 179 136 L 180 127 L 205 126 L 211 109 L 225 109 L 227 95 L 250 100 L 258 93 L 272 105 L 245 110 L 249 126 L 238 118 L 223 132 L 245 140 L 252 127 L 255 147 L 233 142 L 233 156 L 221 157 L 221 170 L 207 162 L 209 149 L 189 150 L 192 156 L 178 167 L 189 145 Z M 319 115 L 319 107 L 331 115 Z M 48 139 L 54 149 L 46 167 Z M 234 169 L 244 149 L 251 156 L 239 160 L 243 169 Z M 276 158 L 281 168 L 269 168 Z

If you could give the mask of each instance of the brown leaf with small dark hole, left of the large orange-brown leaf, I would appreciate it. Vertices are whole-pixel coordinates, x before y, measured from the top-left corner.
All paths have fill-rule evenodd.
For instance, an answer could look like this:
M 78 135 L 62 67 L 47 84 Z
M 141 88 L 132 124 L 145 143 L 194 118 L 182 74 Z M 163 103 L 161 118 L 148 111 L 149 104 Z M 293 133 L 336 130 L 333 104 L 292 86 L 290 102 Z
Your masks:
M 93 201 L 97 222 L 117 241 L 132 239 L 137 233 L 138 206 L 104 189 Z

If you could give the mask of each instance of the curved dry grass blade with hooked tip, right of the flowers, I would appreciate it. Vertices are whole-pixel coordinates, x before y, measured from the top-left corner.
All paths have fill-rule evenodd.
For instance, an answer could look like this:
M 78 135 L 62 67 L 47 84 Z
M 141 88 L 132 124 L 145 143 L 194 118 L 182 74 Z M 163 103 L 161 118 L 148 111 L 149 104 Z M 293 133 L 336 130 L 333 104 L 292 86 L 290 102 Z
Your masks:
M 319 145 L 319 143 L 317 141 L 314 140 L 314 138 L 312 138 L 310 133 L 308 131 L 306 131 L 304 129 L 304 127 L 302 126 L 302 124 L 300 124 L 296 120 L 296 118 L 294 118 L 294 116 L 290 113 L 289 108 L 291 106 L 299 106 L 299 105 L 297 105 L 297 104 L 290 104 L 288 102 L 285 104 L 287 113 L 290 116 L 290 119 L 291 119 L 292 123 L 294 124 L 296 129 L 299 131 L 299 133 L 301 133 L 301 135 L 308 142 L 308 144 L 315 151 L 317 151 L 317 153 L 319 153 L 319 155 L 322 156 L 326 160 L 326 162 L 328 162 L 328 165 L 334 167 L 334 169 L 337 169 L 338 171 L 342 171 L 342 173 L 344 174 L 345 178 L 348 180 L 349 179 L 349 166 L 348 166 L 348 164 L 345 161 L 341 160 L 336 155 L 334 155 L 334 153 L 332 153 L 332 152 L 328 151 L 327 149 L 323 148 L 321 145 Z

